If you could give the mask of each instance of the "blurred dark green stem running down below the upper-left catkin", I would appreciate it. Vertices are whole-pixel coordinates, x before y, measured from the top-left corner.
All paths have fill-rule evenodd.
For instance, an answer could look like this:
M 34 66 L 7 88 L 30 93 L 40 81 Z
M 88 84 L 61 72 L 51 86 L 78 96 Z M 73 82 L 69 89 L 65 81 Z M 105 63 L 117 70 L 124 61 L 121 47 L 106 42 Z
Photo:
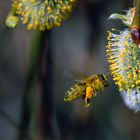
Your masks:
M 33 44 L 31 47 L 31 62 L 29 63 L 29 72 L 27 74 L 27 79 L 25 83 L 24 97 L 22 103 L 22 112 L 19 124 L 19 133 L 17 140 L 24 140 L 29 138 L 29 128 L 30 121 L 32 116 L 32 104 L 33 104 L 33 95 L 32 95 L 32 87 L 35 81 L 35 77 L 37 75 L 37 66 L 38 66 L 38 56 L 39 49 L 41 44 L 42 33 L 35 33 L 35 37 L 33 39 Z M 24 132 L 24 133 L 23 133 Z

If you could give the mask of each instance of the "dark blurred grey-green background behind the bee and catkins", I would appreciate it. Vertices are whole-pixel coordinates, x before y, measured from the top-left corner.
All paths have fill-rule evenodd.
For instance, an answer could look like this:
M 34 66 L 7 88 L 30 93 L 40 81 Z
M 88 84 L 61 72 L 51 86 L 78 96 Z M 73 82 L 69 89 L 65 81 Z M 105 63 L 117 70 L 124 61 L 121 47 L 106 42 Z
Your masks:
M 110 86 L 89 109 L 78 99 L 63 101 L 73 85 L 65 71 L 108 73 L 107 30 L 125 28 L 109 21 L 132 0 L 79 0 L 70 18 L 51 31 L 7 29 L 11 1 L 0 1 L 0 140 L 140 140 L 140 113 L 123 103 Z

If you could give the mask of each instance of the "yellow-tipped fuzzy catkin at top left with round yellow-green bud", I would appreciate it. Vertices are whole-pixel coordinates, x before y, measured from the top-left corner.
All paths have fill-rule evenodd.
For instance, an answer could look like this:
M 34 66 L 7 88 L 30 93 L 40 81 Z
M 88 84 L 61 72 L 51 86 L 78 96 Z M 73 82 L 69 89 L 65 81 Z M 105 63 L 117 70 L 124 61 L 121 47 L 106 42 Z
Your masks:
M 77 0 L 13 0 L 6 25 L 13 28 L 17 20 L 11 17 L 20 17 L 27 29 L 45 30 L 60 26 L 66 19 Z M 12 21 L 10 20 L 12 19 Z

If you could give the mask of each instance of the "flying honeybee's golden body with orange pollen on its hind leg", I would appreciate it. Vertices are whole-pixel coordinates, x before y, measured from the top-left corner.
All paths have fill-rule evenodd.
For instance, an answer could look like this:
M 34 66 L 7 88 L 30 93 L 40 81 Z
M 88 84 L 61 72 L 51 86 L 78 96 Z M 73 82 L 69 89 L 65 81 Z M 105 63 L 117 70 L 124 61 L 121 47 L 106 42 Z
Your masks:
M 85 101 L 85 108 L 88 108 L 90 99 L 95 97 L 97 92 L 103 91 L 104 87 L 108 85 L 107 76 L 102 73 L 84 77 L 77 80 L 77 83 L 65 93 L 64 101 L 69 102 L 82 98 Z

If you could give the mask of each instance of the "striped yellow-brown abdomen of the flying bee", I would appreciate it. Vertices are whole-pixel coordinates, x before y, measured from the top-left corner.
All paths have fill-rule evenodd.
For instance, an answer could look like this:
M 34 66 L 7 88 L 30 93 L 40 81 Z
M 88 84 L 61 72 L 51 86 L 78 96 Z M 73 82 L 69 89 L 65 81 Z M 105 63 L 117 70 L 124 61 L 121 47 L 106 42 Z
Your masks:
M 64 101 L 72 101 L 83 96 L 85 86 L 83 84 L 75 84 L 64 95 Z

